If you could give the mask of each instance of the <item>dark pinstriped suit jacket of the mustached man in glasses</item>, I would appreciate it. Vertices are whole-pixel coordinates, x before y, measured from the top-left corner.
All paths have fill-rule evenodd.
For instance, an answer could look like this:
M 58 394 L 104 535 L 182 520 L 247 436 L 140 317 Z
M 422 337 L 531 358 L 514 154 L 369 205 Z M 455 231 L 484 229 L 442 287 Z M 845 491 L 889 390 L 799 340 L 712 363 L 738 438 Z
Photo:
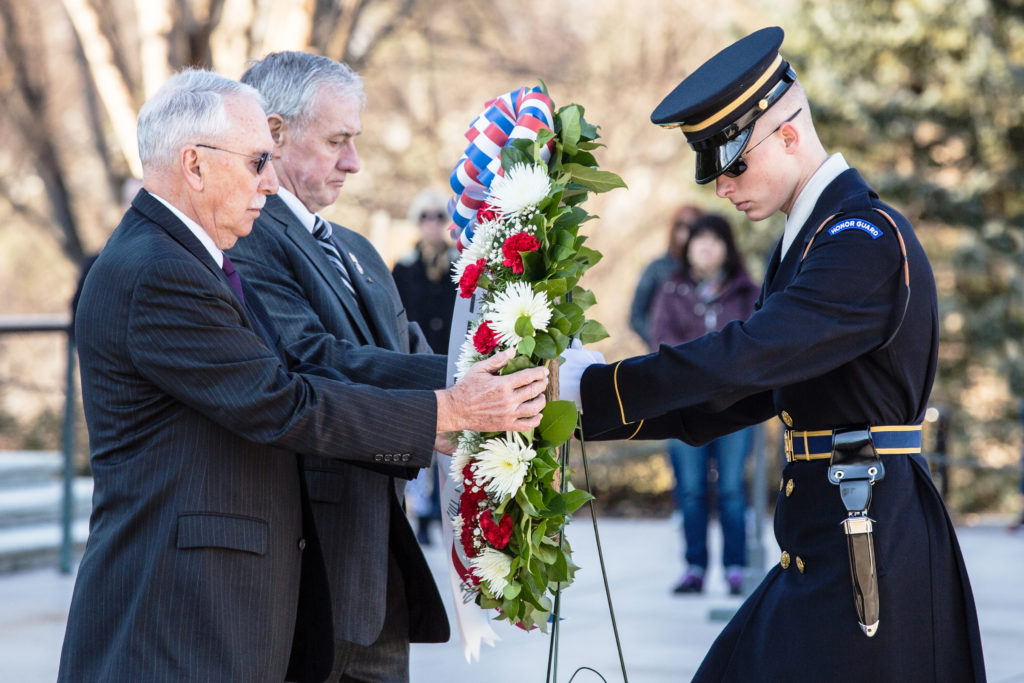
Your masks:
M 95 488 L 61 681 L 280 683 L 297 629 L 296 671 L 326 675 L 295 454 L 374 462 L 386 433 L 430 462 L 432 392 L 286 372 L 246 292 L 144 190 L 89 272 L 76 331 Z M 392 433 L 393 413 L 420 431 Z

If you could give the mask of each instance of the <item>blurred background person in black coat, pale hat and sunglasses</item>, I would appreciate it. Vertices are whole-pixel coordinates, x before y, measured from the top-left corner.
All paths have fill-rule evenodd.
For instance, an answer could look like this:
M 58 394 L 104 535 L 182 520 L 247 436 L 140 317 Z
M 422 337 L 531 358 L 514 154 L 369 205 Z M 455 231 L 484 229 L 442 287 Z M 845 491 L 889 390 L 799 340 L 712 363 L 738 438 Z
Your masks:
M 449 240 L 446 199 L 434 189 L 420 191 L 409 207 L 409 221 L 420 229 L 420 239 L 391 270 L 409 319 L 419 324 L 435 352 L 447 350 L 452 310 L 458 290 L 452 282 L 452 263 L 459 252 Z M 406 486 L 406 498 L 416 515 L 416 539 L 430 545 L 430 526 L 440 521 L 440 486 L 437 468 L 421 470 Z

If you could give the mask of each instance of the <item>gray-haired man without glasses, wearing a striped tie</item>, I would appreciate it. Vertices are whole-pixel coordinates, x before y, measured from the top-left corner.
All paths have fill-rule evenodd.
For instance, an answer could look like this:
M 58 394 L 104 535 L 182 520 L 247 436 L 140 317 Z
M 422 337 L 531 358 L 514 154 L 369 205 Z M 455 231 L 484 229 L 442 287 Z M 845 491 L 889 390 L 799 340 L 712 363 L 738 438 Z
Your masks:
M 354 347 L 360 362 L 378 369 L 369 381 L 381 386 L 443 387 L 446 358 L 429 354 L 380 254 L 362 236 L 317 215 L 359 170 L 361 80 L 327 57 L 276 52 L 242 81 L 267 101 L 281 189 L 231 258 L 283 340 L 304 361 L 342 372 L 359 357 Z M 394 352 L 415 354 L 407 355 L 413 372 L 384 375 L 379 358 Z M 388 433 L 423 433 L 399 412 L 385 417 Z M 305 460 L 305 477 L 331 585 L 335 657 L 328 680 L 409 680 L 410 642 L 444 642 L 450 631 L 400 503 L 404 481 L 322 458 Z

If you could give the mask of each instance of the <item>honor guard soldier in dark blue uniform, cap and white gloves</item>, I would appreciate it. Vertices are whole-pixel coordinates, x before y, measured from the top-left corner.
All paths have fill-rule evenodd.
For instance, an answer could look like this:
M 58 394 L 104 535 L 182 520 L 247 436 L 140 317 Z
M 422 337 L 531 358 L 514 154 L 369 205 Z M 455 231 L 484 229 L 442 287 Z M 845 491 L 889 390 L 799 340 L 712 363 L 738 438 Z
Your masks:
M 695 681 L 983 681 L 970 582 L 921 456 L 932 269 L 909 221 L 825 152 L 782 37 L 723 49 L 651 115 L 696 152 L 697 183 L 751 220 L 785 214 L 756 311 L 610 365 L 569 349 L 561 394 L 589 439 L 701 444 L 784 423 L 780 560 Z

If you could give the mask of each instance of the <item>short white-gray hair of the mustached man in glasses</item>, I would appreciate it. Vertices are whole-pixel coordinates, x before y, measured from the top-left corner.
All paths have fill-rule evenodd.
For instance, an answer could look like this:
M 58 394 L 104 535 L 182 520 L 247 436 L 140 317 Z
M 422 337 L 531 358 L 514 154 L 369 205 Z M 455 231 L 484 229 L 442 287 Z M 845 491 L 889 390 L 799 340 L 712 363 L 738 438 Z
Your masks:
M 138 113 L 138 156 L 143 168 L 173 164 L 182 146 L 216 140 L 231 123 L 224 98 L 252 97 L 266 111 L 252 86 L 202 69 L 185 69 L 142 105 Z

